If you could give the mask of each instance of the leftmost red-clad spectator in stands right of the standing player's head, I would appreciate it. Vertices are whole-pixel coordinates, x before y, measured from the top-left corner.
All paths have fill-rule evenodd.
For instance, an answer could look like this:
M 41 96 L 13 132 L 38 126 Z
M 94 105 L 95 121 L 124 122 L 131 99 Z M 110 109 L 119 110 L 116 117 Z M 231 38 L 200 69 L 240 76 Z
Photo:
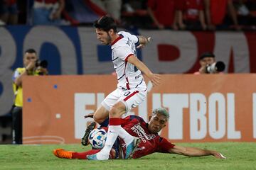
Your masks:
M 177 30 L 174 11 L 175 0 L 149 0 L 147 3 L 149 16 L 154 26 L 159 29 L 173 28 Z

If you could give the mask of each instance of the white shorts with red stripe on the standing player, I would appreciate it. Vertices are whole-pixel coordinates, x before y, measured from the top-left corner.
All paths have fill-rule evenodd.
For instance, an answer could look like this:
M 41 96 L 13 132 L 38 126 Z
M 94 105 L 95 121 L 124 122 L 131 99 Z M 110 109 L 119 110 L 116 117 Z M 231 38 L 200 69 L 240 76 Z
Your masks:
M 121 89 L 116 89 L 109 94 L 104 101 L 102 101 L 102 106 L 104 106 L 107 111 L 110 111 L 110 108 L 121 101 L 126 106 L 127 112 L 131 111 L 132 108 L 136 108 L 140 103 L 142 103 L 146 98 L 146 91 L 139 89 L 130 89 L 122 91 Z M 127 113 L 126 112 L 126 113 Z

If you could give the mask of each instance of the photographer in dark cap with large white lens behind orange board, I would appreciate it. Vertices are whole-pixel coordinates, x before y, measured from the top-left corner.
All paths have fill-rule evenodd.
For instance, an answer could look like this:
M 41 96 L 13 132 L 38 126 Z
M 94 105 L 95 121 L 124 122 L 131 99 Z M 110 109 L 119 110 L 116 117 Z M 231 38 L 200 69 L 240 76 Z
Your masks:
M 218 74 L 224 71 L 224 62 L 216 62 L 215 55 L 211 52 L 205 52 L 199 58 L 199 63 L 201 65 L 198 72 L 194 74 Z

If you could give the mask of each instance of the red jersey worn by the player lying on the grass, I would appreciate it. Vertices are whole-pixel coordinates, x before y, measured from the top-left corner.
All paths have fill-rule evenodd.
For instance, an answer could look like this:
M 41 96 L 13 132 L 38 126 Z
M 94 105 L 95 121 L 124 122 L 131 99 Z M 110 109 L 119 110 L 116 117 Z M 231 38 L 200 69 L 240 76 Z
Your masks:
M 132 158 L 144 157 L 154 152 L 167 153 L 175 146 L 164 137 L 149 132 L 148 124 L 137 115 L 129 115 L 123 121 L 122 128 L 141 140 Z

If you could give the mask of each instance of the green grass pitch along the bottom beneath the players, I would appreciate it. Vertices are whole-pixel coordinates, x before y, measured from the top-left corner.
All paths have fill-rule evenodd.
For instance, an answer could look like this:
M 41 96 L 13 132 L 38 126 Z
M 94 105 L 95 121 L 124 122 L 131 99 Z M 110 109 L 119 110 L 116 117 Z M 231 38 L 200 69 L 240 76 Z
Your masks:
M 0 145 L 0 169 L 256 169 L 256 143 L 180 143 L 184 147 L 200 147 L 221 152 L 227 159 L 184 157 L 154 153 L 140 159 L 108 160 L 59 159 L 53 149 L 83 152 L 81 145 Z

